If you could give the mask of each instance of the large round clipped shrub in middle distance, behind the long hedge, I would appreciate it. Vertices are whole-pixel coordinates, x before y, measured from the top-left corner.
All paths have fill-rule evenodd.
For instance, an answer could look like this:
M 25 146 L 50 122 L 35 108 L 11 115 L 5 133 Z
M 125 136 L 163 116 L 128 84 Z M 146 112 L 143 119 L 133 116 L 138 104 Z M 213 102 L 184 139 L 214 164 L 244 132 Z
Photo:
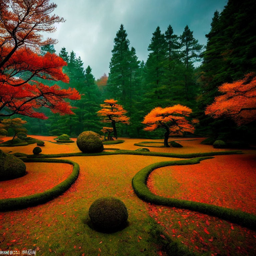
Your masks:
M 95 132 L 86 131 L 77 137 L 76 144 L 83 153 L 99 153 L 103 151 L 103 143 L 96 134 Z

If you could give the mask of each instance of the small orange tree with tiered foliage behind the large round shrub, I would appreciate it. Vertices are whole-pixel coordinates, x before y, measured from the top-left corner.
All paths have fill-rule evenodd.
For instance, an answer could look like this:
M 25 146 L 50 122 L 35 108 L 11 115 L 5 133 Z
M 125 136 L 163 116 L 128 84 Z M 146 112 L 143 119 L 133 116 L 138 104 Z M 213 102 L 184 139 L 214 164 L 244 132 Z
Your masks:
M 129 124 L 129 117 L 125 114 L 126 110 L 123 109 L 122 105 L 116 104 L 117 100 L 110 99 L 104 100 L 105 104 L 101 104 L 101 110 L 97 113 L 103 119 L 103 123 L 111 123 L 114 131 L 114 137 L 117 139 L 116 123 Z

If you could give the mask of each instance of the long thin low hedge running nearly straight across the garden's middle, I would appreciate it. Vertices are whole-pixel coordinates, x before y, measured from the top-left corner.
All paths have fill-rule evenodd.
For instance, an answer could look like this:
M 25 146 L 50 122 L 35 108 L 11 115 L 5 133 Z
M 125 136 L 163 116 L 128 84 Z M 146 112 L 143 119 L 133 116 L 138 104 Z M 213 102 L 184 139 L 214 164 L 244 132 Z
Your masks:
M 115 150 L 114 148 L 105 148 L 106 150 Z M 219 152 L 205 152 L 205 153 L 190 153 L 190 154 L 174 154 L 174 153 L 161 153 L 161 152 L 147 152 L 147 151 L 135 151 L 135 150 L 122 150 L 116 149 L 113 152 L 100 152 L 100 153 L 62 153 L 62 154 L 40 154 L 39 156 L 35 155 L 26 155 L 24 153 L 14 153 L 16 157 L 28 157 L 28 158 L 58 158 L 58 157 L 71 157 L 71 156 L 106 156 L 106 155 L 141 155 L 141 156 L 163 156 L 163 157 L 173 157 L 173 158 L 194 158 L 194 157 L 203 157 L 203 156 L 217 156 L 217 155 L 234 155 L 234 154 L 243 154 L 242 151 L 231 150 L 231 151 L 219 151 Z

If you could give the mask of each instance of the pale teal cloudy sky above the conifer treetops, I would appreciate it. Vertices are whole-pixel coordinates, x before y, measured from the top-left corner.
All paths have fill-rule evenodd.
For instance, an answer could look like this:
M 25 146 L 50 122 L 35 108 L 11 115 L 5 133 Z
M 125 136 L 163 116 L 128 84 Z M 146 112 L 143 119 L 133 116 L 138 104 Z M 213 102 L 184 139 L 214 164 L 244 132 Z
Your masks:
M 95 78 L 109 72 L 113 40 L 124 24 L 130 47 L 136 49 L 139 60 L 147 60 L 152 33 L 160 26 L 164 33 L 170 24 L 174 33 L 182 34 L 186 25 L 200 44 L 206 44 L 205 34 L 215 10 L 222 11 L 226 0 L 54 0 L 55 14 L 66 19 L 49 34 L 62 47 L 74 51 L 92 68 Z M 47 35 L 48 36 L 48 35 Z

